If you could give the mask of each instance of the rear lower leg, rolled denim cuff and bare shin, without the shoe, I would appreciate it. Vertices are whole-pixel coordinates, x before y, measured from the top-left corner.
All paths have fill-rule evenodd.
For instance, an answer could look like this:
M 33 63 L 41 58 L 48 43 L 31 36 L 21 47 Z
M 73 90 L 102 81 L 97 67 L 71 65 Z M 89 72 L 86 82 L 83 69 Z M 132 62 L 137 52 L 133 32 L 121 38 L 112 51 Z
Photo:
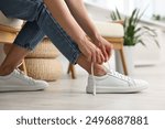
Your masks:
M 40 43 L 44 35 L 35 21 L 26 22 L 0 66 L 0 76 L 13 72 L 24 56 Z

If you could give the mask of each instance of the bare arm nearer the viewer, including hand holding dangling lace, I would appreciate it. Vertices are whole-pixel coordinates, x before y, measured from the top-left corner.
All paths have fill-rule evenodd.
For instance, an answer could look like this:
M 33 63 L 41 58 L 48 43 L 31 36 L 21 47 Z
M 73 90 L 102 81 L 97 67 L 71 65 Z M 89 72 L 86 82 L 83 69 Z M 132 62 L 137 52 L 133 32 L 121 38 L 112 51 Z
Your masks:
M 87 37 L 86 33 L 72 15 L 64 0 L 44 0 L 48 11 L 55 20 L 67 32 L 67 34 L 78 44 L 81 53 L 89 62 L 103 63 L 105 57 L 100 49 L 94 45 Z

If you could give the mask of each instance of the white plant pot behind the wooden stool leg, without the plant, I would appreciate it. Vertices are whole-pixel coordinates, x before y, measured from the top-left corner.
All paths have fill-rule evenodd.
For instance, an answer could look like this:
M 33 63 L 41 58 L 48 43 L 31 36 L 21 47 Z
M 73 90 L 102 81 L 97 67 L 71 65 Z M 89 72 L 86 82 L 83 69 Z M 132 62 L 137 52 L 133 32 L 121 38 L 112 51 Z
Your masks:
M 134 75 L 134 60 L 133 60 L 134 46 L 124 46 L 123 51 L 124 51 L 128 74 L 129 76 L 133 76 Z M 122 67 L 119 52 L 116 52 L 116 68 L 119 73 L 123 74 L 123 67 Z

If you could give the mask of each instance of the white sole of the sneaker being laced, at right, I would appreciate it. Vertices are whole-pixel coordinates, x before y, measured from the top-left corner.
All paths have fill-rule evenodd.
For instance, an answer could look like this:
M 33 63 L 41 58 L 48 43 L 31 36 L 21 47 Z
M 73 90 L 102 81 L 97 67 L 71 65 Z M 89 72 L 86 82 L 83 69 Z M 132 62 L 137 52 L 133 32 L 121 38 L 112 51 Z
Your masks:
M 129 93 L 139 93 L 144 89 L 146 89 L 147 86 L 141 86 L 141 87 L 128 87 L 128 88 L 119 88 L 119 87 L 103 87 L 103 86 L 97 86 L 96 93 L 97 94 L 129 94 Z M 86 88 L 87 94 L 92 94 L 94 90 L 91 86 L 87 86 Z

